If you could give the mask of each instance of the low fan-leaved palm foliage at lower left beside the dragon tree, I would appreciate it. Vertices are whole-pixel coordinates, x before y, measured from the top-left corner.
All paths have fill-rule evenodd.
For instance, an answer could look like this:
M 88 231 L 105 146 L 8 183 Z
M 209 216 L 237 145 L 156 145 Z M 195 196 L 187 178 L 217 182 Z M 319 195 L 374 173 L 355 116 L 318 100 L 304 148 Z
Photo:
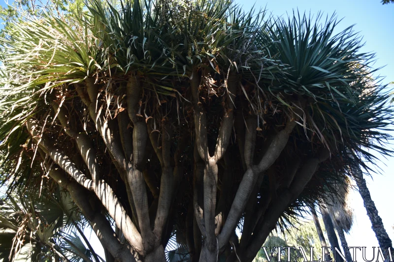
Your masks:
M 1 201 L 0 259 L 102 261 L 83 233 L 84 221 L 70 195 L 59 188 L 39 197 L 34 193 L 7 195 Z

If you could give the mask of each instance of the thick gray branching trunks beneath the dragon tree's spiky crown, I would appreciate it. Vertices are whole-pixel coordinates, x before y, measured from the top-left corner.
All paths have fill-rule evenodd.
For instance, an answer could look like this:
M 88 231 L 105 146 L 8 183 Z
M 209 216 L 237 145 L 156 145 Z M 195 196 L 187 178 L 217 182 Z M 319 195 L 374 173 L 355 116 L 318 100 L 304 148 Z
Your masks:
M 197 73 L 196 73 L 197 74 Z M 217 188 L 218 188 L 218 163 L 225 158 L 225 153 L 230 144 L 230 137 L 233 130 L 234 120 L 234 104 L 233 97 L 239 84 L 238 77 L 235 73 L 230 74 L 226 82 L 228 94 L 223 103 L 224 114 L 222 123 L 218 131 L 218 138 L 215 150 L 212 154 L 208 152 L 207 137 L 207 116 L 205 108 L 198 101 L 201 79 L 195 75 L 191 81 L 192 101 L 194 106 L 195 120 L 195 180 L 194 180 L 194 200 L 193 212 L 190 210 L 188 228 L 192 231 L 188 240 L 190 245 L 194 246 L 194 258 L 197 262 L 217 262 L 218 256 L 225 250 L 227 253 L 233 252 L 235 258 L 241 256 L 242 261 L 249 262 L 253 260 L 254 255 L 260 249 L 267 234 L 275 226 L 278 218 L 286 207 L 294 202 L 303 188 L 308 184 L 309 180 L 318 169 L 319 164 L 329 157 L 329 151 L 322 149 L 318 154 L 314 154 L 310 158 L 305 159 L 305 163 L 298 167 L 300 163 L 292 166 L 287 183 L 283 185 L 281 194 L 276 195 L 278 184 L 275 179 L 270 184 L 268 199 L 261 204 L 261 213 L 256 220 L 252 220 L 250 241 L 245 242 L 245 248 L 242 248 L 238 239 L 232 239 L 234 229 L 239 222 L 240 217 L 245 212 L 248 216 L 252 216 L 252 210 L 257 204 L 256 196 L 260 189 L 264 173 L 270 172 L 269 168 L 274 164 L 286 147 L 289 137 L 296 126 L 296 118 L 289 116 L 285 122 L 285 126 L 280 131 L 275 131 L 268 144 L 264 144 L 264 150 L 259 156 L 259 160 L 254 161 L 254 151 L 257 136 L 257 117 L 247 116 L 245 119 L 245 132 L 241 132 L 240 140 L 242 140 L 243 149 L 240 150 L 243 156 L 243 166 L 245 174 L 239 183 L 238 190 L 234 196 L 228 215 L 223 216 L 217 211 L 222 208 L 216 206 Z M 92 212 L 83 199 L 83 194 L 71 192 L 74 201 L 86 209 L 89 214 L 86 215 L 92 223 L 92 227 L 98 234 L 104 248 L 112 255 L 116 261 L 133 261 L 133 259 L 143 262 L 164 262 L 164 247 L 166 244 L 167 221 L 169 209 L 174 199 L 175 185 L 179 181 L 179 173 L 177 167 L 177 156 L 171 155 L 171 127 L 164 121 L 161 130 L 161 145 L 159 144 L 156 132 L 149 130 L 147 119 L 141 118 L 138 112 L 140 107 L 141 83 L 137 76 L 131 76 L 127 83 L 127 112 L 121 113 L 118 123 L 108 120 L 102 111 L 102 105 L 98 103 L 99 86 L 95 84 L 93 79 L 86 79 L 85 87 L 75 84 L 78 95 L 82 102 L 88 108 L 90 118 L 96 126 L 98 135 L 102 138 L 103 146 L 108 149 L 109 158 L 114 162 L 121 179 L 125 181 L 127 197 L 130 202 L 131 209 L 125 208 L 116 196 L 116 188 L 112 189 L 111 185 L 100 179 L 99 161 L 95 151 L 95 146 L 85 132 L 81 132 L 81 128 L 76 127 L 70 121 L 67 110 L 54 104 L 56 116 L 63 126 L 65 133 L 76 143 L 82 160 L 86 167 L 81 167 L 72 162 L 72 159 L 59 148 L 49 136 L 41 134 L 38 128 L 38 122 L 33 119 L 27 121 L 27 127 L 31 132 L 33 139 L 37 145 L 49 156 L 53 162 L 62 169 L 60 175 L 51 175 L 59 184 L 67 188 L 67 190 L 75 191 L 91 191 L 96 194 L 97 202 L 107 209 L 108 214 L 114 220 L 118 231 L 122 233 L 128 243 L 122 244 L 119 234 L 115 234 L 113 230 L 105 224 L 103 215 L 96 214 L 97 210 Z M 85 88 L 85 89 L 84 89 Z M 128 119 L 128 116 L 130 119 Z M 140 118 L 138 118 L 138 117 Z M 128 131 L 128 122 L 132 123 L 132 131 Z M 150 120 L 153 121 L 153 120 Z M 119 125 L 119 127 L 118 127 Z M 157 131 L 157 130 L 156 130 Z M 132 134 L 132 136 L 131 136 Z M 150 143 L 148 141 L 150 139 Z M 147 143 L 151 145 L 147 147 Z M 181 145 L 181 143 L 179 143 Z M 179 146 L 178 145 L 178 146 Z M 152 174 L 144 173 L 144 158 L 146 151 L 154 149 L 157 158 L 161 164 L 160 186 Z M 178 149 L 177 149 L 178 150 Z M 46 156 L 43 157 L 44 161 Z M 174 161 L 172 161 L 174 159 Z M 226 162 L 226 160 L 224 160 Z M 175 164 L 173 163 L 175 162 Z M 256 162 L 256 163 L 254 163 Z M 226 164 L 227 167 L 229 165 Z M 64 172 L 64 174 L 62 173 Z M 85 173 L 85 174 L 84 174 Z M 178 174 L 179 173 L 179 174 Z M 297 173 L 297 175 L 296 175 Z M 67 174 L 67 175 L 66 175 Z M 62 177 L 60 177 L 62 175 Z M 59 176 L 59 177 L 58 177 Z M 270 175 L 271 178 L 275 174 Z M 73 182 L 64 185 L 67 179 L 72 178 Z M 226 176 L 228 179 L 229 177 Z M 75 180 L 75 181 L 74 181 Z M 222 180 L 222 181 L 225 181 Z M 68 183 L 68 181 L 67 181 Z M 222 182 L 223 186 L 225 185 Z M 152 206 L 154 213 L 150 212 L 148 205 L 148 196 L 146 192 L 147 185 L 152 191 L 154 197 Z M 223 191 L 222 191 L 223 190 Z M 283 191 L 283 194 L 282 194 Z M 253 201 L 249 203 L 250 196 L 253 194 Z M 226 197 L 225 187 L 221 189 L 222 199 Z M 221 203 L 221 201 L 219 201 Z M 272 203 L 271 203 L 272 202 Z M 219 203 L 219 204 L 220 204 Z M 86 205 L 86 206 L 85 206 Z M 152 207 L 151 206 L 151 207 Z M 228 208 L 228 207 L 227 207 Z M 157 210 L 156 210 L 157 209 Z M 265 210 L 268 210 L 265 214 Z M 129 212 L 129 213 L 127 213 Z M 227 212 L 226 212 L 227 213 Z M 153 214 L 153 215 L 152 215 Z M 249 219 L 249 218 L 248 218 Z M 98 224 L 99 221 L 101 224 Z M 104 225 L 105 224 L 105 225 Z M 258 226 L 257 226 L 258 225 Z M 172 227 L 172 226 L 171 226 Z M 258 228 L 258 232 L 253 230 Z M 246 228 L 245 228 L 246 229 Z M 193 233 L 193 234 L 192 234 Z M 202 236 L 202 237 L 201 237 Z M 246 239 L 246 238 L 245 238 Z M 235 241 L 237 240 L 237 241 Z M 235 243 L 237 242 L 237 243 Z M 233 248 L 233 251 L 232 251 Z M 237 252 L 235 251 L 237 249 Z M 193 248 L 191 248 L 193 251 Z M 128 253 L 128 254 L 127 254 Z M 108 254 L 109 255 L 109 254 Z M 107 256 L 108 260 L 111 260 Z

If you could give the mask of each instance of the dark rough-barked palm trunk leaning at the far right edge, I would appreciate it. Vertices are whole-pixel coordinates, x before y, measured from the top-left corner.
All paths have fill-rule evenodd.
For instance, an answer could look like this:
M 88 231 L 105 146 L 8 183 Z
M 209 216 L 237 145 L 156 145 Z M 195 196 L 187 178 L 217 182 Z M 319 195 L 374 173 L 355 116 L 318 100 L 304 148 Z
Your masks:
M 392 256 L 394 257 L 393 243 L 389 235 L 387 234 L 385 227 L 383 226 L 382 219 L 378 214 L 375 203 L 371 199 L 371 195 L 369 194 L 369 190 L 366 186 L 366 182 L 362 175 L 361 169 L 360 167 L 357 167 L 355 170 L 355 180 L 359 188 L 361 198 L 364 202 L 366 213 L 369 217 L 369 220 L 371 221 L 372 230 L 375 233 L 376 238 L 378 239 L 379 246 L 382 248 L 382 250 L 385 251 L 387 251 L 387 249 L 390 247 Z

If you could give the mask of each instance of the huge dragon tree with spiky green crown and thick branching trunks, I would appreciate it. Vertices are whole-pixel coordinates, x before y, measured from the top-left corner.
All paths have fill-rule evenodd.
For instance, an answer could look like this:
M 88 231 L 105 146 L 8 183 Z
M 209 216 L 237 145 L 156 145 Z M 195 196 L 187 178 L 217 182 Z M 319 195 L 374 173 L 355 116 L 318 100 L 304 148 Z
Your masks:
M 368 171 L 370 150 L 391 154 L 374 54 L 335 15 L 89 0 L 13 22 L 3 182 L 60 185 L 118 261 L 165 261 L 174 235 L 192 261 L 252 261 L 277 224 Z

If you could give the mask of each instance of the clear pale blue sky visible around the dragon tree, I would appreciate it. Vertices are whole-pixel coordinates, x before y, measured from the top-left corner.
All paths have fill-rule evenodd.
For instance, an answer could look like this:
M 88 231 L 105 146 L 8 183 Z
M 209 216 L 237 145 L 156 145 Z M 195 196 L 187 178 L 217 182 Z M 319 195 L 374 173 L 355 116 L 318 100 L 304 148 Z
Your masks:
M 375 67 L 385 66 L 379 71 L 381 76 L 386 76 L 383 83 L 394 81 L 394 4 L 382 5 L 380 0 L 235 0 L 235 3 L 242 5 L 245 10 L 250 10 L 255 4 L 257 9 L 266 8 L 275 16 L 286 16 L 287 13 L 291 14 L 297 8 L 300 13 L 305 11 L 317 14 L 323 11 L 324 14 L 331 15 L 336 12 L 339 19 L 343 18 L 338 29 L 345 29 L 355 24 L 354 29 L 360 32 L 365 41 L 362 51 L 376 53 Z M 5 5 L 3 0 L 1 0 L 1 5 Z M 394 135 L 394 132 L 392 134 Z M 391 147 L 394 148 L 394 146 Z M 366 180 L 386 231 L 391 239 L 394 239 L 392 228 L 394 226 L 394 157 L 388 159 L 378 157 L 381 160 L 379 164 L 379 168 L 382 169 L 381 174 L 373 175 L 373 179 L 366 177 Z M 351 206 L 354 208 L 355 221 L 350 234 L 347 235 L 349 246 L 365 246 L 369 249 L 372 246 L 378 246 L 358 192 L 352 193 Z M 92 240 L 96 238 L 94 235 L 92 237 Z M 96 241 L 93 240 L 93 242 Z M 99 253 L 102 255 L 101 252 Z

